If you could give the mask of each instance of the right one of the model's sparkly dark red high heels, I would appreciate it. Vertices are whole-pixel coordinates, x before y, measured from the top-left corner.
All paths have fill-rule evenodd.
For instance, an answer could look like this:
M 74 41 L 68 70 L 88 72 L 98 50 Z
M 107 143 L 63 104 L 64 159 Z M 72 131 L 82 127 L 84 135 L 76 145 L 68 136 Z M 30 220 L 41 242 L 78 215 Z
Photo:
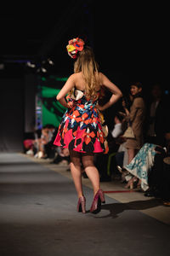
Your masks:
M 101 211 L 101 203 L 105 204 L 105 195 L 102 189 L 99 189 L 96 195 L 94 196 L 94 201 L 90 208 L 90 212 L 96 214 Z

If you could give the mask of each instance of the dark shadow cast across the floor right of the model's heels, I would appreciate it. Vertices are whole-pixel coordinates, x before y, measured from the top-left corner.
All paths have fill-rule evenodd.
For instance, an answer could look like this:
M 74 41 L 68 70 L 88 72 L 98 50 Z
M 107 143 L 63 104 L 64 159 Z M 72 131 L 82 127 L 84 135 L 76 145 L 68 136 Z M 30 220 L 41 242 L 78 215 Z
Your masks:
M 113 203 L 102 205 L 102 210 L 108 210 L 110 213 L 99 218 L 118 218 L 121 212 L 126 210 L 144 210 L 152 207 L 162 206 L 161 200 L 150 199 L 148 201 L 131 201 L 127 203 Z

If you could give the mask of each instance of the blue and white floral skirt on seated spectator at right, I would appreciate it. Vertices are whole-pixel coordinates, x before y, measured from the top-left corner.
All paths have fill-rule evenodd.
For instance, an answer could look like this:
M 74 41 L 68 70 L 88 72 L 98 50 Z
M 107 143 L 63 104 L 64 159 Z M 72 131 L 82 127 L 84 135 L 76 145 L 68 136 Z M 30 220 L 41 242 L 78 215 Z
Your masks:
M 145 190 L 149 189 L 148 185 L 148 172 L 154 165 L 154 159 L 156 155 L 156 145 L 151 143 L 144 143 L 144 146 L 140 148 L 139 153 L 135 155 L 133 160 L 125 166 L 125 169 L 135 177 L 141 180 L 141 188 Z M 126 177 L 130 179 L 131 177 Z

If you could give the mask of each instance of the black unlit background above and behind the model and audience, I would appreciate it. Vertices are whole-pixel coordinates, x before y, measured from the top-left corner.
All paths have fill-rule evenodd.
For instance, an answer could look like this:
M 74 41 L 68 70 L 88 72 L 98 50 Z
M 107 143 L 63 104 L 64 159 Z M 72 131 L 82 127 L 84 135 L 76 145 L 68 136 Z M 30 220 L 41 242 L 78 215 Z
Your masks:
M 168 89 L 168 15 L 164 4 L 61 1 L 8 3 L 1 7 L 1 151 L 20 151 L 28 119 L 34 119 L 37 68 L 49 57 L 48 73 L 69 76 L 73 63 L 65 50 L 80 36 L 94 48 L 100 70 L 121 88 L 133 81 Z M 26 62 L 36 68 L 26 67 Z M 44 75 L 44 74 L 43 74 Z M 111 117 L 112 118 L 112 117 Z M 29 129 L 28 129 L 29 130 Z

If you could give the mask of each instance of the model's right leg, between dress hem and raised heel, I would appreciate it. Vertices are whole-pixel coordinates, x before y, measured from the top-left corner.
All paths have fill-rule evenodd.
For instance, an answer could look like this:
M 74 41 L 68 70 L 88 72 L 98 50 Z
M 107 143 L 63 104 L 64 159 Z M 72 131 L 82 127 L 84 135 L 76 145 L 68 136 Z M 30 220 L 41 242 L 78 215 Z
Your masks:
M 98 169 L 94 166 L 94 154 L 82 154 L 82 165 L 84 166 L 84 171 L 88 175 L 93 188 L 94 195 L 98 192 L 99 186 L 99 172 Z

